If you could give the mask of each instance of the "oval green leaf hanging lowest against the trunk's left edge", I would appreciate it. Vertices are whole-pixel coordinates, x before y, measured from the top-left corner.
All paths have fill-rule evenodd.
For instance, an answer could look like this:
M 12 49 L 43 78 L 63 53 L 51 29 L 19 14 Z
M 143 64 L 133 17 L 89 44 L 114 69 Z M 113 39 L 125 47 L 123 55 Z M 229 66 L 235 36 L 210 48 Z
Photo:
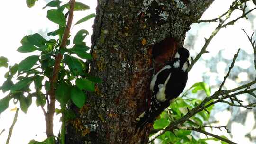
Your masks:
M 80 90 L 78 87 L 72 87 L 71 91 L 71 100 L 73 101 L 73 103 L 78 107 L 78 108 L 82 108 L 82 106 L 84 105 L 85 101 L 86 101 L 86 95 L 85 93 Z

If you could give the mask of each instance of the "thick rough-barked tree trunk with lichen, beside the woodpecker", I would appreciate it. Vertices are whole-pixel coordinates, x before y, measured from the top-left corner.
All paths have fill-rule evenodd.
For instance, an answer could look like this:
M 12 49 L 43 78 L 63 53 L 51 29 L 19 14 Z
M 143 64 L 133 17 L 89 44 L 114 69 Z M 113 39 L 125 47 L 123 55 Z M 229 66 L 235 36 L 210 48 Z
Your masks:
M 90 73 L 103 79 L 78 117 L 67 124 L 67 144 L 147 144 L 152 125 L 135 134 L 150 98 L 152 47 L 185 33 L 214 0 L 98 0 Z M 175 49 L 172 51 L 176 51 Z

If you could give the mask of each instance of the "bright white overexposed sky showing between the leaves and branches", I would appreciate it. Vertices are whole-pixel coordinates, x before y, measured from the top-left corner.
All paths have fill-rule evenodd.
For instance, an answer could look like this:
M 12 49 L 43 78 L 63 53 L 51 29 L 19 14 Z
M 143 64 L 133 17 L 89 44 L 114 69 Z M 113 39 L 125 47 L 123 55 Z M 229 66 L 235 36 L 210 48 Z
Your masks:
M 75 12 L 74 20 L 75 23 L 80 18 L 84 16 L 95 13 L 96 0 L 80 0 L 85 4 L 88 4 L 91 7 L 91 10 L 87 10 L 84 12 Z M 207 10 L 207 12 L 203 15 L 202 19 L 211 19 L 216 18 L 224 11 L 229 9 L 229 5 L 233 0 L 215 0 L 215 2 L 211 5 L 211 7 Z M 19 63 L 22 59 L 27 57 L 29 54 L 21 54 L 16 51 L 16 49 L 21 46 L 19 43 L 21 38 L 25 35 L 33 34 L 39 31 L 40 34 L 43 34 L 45 31 L 50 32 L 57 29 L 57 25 L 53 24 L 46 18 L 47 9 L 42 10 L 42 7 L 46 5 L 46 2 L 43 0 L 39 0 L 33 8 L 27 8 L 25 0 L 2 0 L 1 1 L 1 19 L 0 22 L 0 56 L 5 56 L 9 59 L 9 65 L 13 65 L 14 63 Z M 252 8 L 253 5 L 249 5 Z M 218 10 L 216 10 L 218 9 Z M 235 16 L 236 12 L 232 15 Z M 256 13 L 252 13 L 252 15 L 256 15 Z M 92 34 L 91 25 L 93 23 L 93 19 L 87 21 L 86 23 L 80 24 L 72 28 L 72 33 L 76 33 L 80 29 L 86 29 Z M 256 20 L 253 21 L 253 24 L 256 23 Z M 204 37 L 209 37 L 210 32 L 216 27 L 216 24 L 212 23 L 207 25 L 204 24 L 192 24 L 191 30 L 187 33 L 187 35 L 198 35 L 195 41 L 195 50 L 191 50 L 191 55 L 195 56 L 197 54 L 202 45 L 204 44 Z M 200 31 L 198 30 L 200 28 Z M 216 36 L 212 42 L 210 43 L 208 50 L 209 54 L 204 54 L 203 59 L 207 60 L 211 57 L 215 57 L 219 50 L 225 49 L 228 53 L 225 53 L 223 57 L 231 60 L 233 55 L 236 53 L 238 48 L 244 49 L 248 54 L 252 54 L 252 49 L 250 44 L 247 42 L 247 37 L 244 36 L 241 28 L 245 29 L 248 33 L 253 32 L 255 27 L 248 20 L 239 20 L 235 26 L 228 27 L 219 32 L 218 36 Z M 73 39 L 73 38 L 71 38 Z M 241 43 L 243 41 L 243 43 Z M 86 37 L 87 45 L 91 45 L 91 35 Z M 185 41 L 185 45 L 188 43 L 188 40 Z M 189 47 L 188 47 L 189 48 Z M 190 48 L 189 48 L 190 49 Z M 239 64 L 239 63 L 238 63 Z M 223 67 L 225 68 L 225 63 L 217 63 L 218 71 L 220 73 L 224 73 Z M 241 63 L 244 66 L 244 63 Z M 201 70 L 198 72 L 196 70 Z M 187 87 L 190 87 L 193 83 L 203 81 L 202 73 L 209 71 L 205 67 L 204 62 L 198 62 L 192 71 L 189 73 L 191 76 L 189 77 L 189 82 Z M 6 72 L 5 68 L 0 68 L 0 85 L 5 81 L 3 75 Z M 240 74 L 241 78 L 246 79 L 246 74 Z M 210 81 L 210 85 L 215 85 L 215 81 Z M 227 86 L 236 86 L 233 81 L 228 81 Z M 0 92 L 0 99 L 5 96 L 2 92 Z M 1 114 L 0 118 L 0 131 L 5 129 L 6 131 L 0 136 L 0 144 L 5 144 L 6 138 L 9 132 L 9 127 L 13 121 L 13 117 L 15 111 L 10 111 L 10 109 L 15 108 L 12 102 L 9 103 L 9 108 Z M 17 105 L 19 107 L 19 105 Z M 221 119 L 221 125 L 227 124 L 227 118 L 230 117 L 231 114 L 229 111 L 222 111 L 217 113 L 214 117 L 220 119 L 221 117 L 226 117 L 225 119 Z M 253 113 L 248 114 L 248 117 L 252 117 Z M 249 121 L 250 120 L 250 121 Z M 232 135 L 235 135 L 234 140 L 243 144 L 253 144 L 250 143 L 248 138 L 245 138 L 244 135 L 240 135 L 239 133 L 241 129 L 245 132 L 250 132 L 252 127 L 250 124 L 254 124 L 254 118 L 249 118 L 247 126 L 242 126 L 239 123 L 232 124 Z M 59 128 L 59 116 L 55 117 L 55 135 L 58 134 Z M 256 131 L 256 130 L 254 130 Z M 214 131 L 215 134 L 225 135 L 224 132 Z M 256 132 L 255 132 L 256 133 Z M 203 135 L 202 135 L 203 136 Z M 41 108 L 38 108 L 32 103 L 30 108 L 28 109 L 27 114 L 24 114 L 21 110 L 18 114 L 18 121 L 14 126 L 12 138 L 9 144 L 27 144 L 30 140 L 35 139 L 38 141 L 42 141 L 46 138 L 45 134 L 45 121 Z M 217 144 L 217 142 L 212 142 L 212 144 Z

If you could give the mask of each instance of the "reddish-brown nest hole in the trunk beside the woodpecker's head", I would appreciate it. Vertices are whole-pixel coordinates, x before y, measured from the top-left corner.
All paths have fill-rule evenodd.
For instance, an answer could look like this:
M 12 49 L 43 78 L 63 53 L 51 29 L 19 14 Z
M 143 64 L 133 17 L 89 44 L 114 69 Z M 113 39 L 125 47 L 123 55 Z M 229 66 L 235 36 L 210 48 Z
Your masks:
M 153 45 L 152 58 L 155 63 L 155 72 L 158 72 L 165 66 L 166 61 L 173 59 L 178 49 L 178 43 L 174 38 L 165 38 L 160 43 Z

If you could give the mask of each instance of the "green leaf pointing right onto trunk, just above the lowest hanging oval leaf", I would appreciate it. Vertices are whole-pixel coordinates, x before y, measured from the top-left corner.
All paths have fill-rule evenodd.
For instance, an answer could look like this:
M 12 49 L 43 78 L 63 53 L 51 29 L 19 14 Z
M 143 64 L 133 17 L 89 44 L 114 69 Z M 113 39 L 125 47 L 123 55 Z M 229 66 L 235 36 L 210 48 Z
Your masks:
M 88 79 L 76 79 L 75 85 L 80 90 L 95 91 L 95 84 Z

